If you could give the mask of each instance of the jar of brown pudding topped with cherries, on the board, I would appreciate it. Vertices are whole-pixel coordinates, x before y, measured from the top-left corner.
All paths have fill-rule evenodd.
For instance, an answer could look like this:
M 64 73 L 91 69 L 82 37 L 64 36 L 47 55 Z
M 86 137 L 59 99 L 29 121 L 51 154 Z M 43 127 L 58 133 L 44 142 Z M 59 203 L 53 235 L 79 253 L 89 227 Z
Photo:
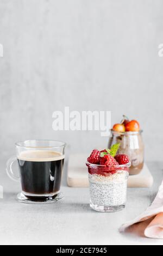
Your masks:
M 144 163 L 144 144 L 139 123 L 136 120 L 129 121 L 123 116 L 121 123 L 112 127 L 108 147 L 115 143 L 120 143 L 118 154 L 129 156 L 131 162 L 129 174 L 139 174 Z

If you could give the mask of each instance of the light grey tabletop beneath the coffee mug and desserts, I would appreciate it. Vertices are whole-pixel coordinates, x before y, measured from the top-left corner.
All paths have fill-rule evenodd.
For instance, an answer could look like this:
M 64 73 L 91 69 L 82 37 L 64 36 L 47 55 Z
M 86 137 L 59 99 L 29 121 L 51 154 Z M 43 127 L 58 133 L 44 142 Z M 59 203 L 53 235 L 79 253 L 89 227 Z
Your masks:
M 5 174 L 1 161 L 0 199 L 1 245 L 157 245 L 163 240 L 119 233 L 122 223 L 136 217 L 153 201 L 163 178 L 163 162 L 148 162 L 154 178 L 151 188 L 128 188 L 126 209 L 101 213 L 90 209 L 89 189 L 66 185 L 65 164 L 61 190 L 65 199 L 46 205 L 22 204 L 15 200 L 20 184 Z

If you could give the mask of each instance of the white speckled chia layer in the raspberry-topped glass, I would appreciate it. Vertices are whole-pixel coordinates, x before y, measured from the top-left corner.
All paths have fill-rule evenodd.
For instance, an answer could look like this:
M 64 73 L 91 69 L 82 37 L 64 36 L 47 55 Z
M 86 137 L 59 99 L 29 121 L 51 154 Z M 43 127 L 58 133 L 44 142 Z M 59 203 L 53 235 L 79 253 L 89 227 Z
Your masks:
M 97 205 L 116 206 L 126 203 L 128 172 L 110 176 L 89 173 L 91 202 Z

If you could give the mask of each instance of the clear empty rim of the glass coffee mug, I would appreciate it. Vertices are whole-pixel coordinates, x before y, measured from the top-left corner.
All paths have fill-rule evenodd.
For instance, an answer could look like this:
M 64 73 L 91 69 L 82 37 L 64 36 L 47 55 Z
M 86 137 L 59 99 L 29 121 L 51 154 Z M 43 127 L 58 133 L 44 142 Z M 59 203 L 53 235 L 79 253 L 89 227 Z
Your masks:
M 52 143 L 50 145 L 47 145 L 47 146 L 32 146 L 32 145 L 25 145 L 25 143 L 29 143 L 29 142 L 32 142 L 32 143 Z M 59 145 L 54 145 L 55 143 L 60 143 Z M 57 141 L 57 140 L 54 140 L 54 139 L 27 139 L 26 141 L 19 141 L 19 142 L 16 142 L 15 143 L 16 147 L 20 147 L 20 148 L 61 148 L 61 147 L 65 147 L 66 146 L 66 143 L 65 142 L 62 142 L 62 141 Z

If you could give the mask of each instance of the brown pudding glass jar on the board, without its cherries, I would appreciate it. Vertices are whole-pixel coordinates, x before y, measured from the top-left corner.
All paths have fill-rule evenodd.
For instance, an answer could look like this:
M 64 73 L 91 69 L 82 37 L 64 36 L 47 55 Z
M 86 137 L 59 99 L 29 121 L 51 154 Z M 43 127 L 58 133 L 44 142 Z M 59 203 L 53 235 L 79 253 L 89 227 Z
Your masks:
M 144 144 L 142 141 L 142 130 L 139 132 L 116 132 L 111 130 L 108 148 L 112 144 L 120 143 L 117 154 L 129 156 L 131 167 L 130 175 L 139 174 L 144 163 Z

